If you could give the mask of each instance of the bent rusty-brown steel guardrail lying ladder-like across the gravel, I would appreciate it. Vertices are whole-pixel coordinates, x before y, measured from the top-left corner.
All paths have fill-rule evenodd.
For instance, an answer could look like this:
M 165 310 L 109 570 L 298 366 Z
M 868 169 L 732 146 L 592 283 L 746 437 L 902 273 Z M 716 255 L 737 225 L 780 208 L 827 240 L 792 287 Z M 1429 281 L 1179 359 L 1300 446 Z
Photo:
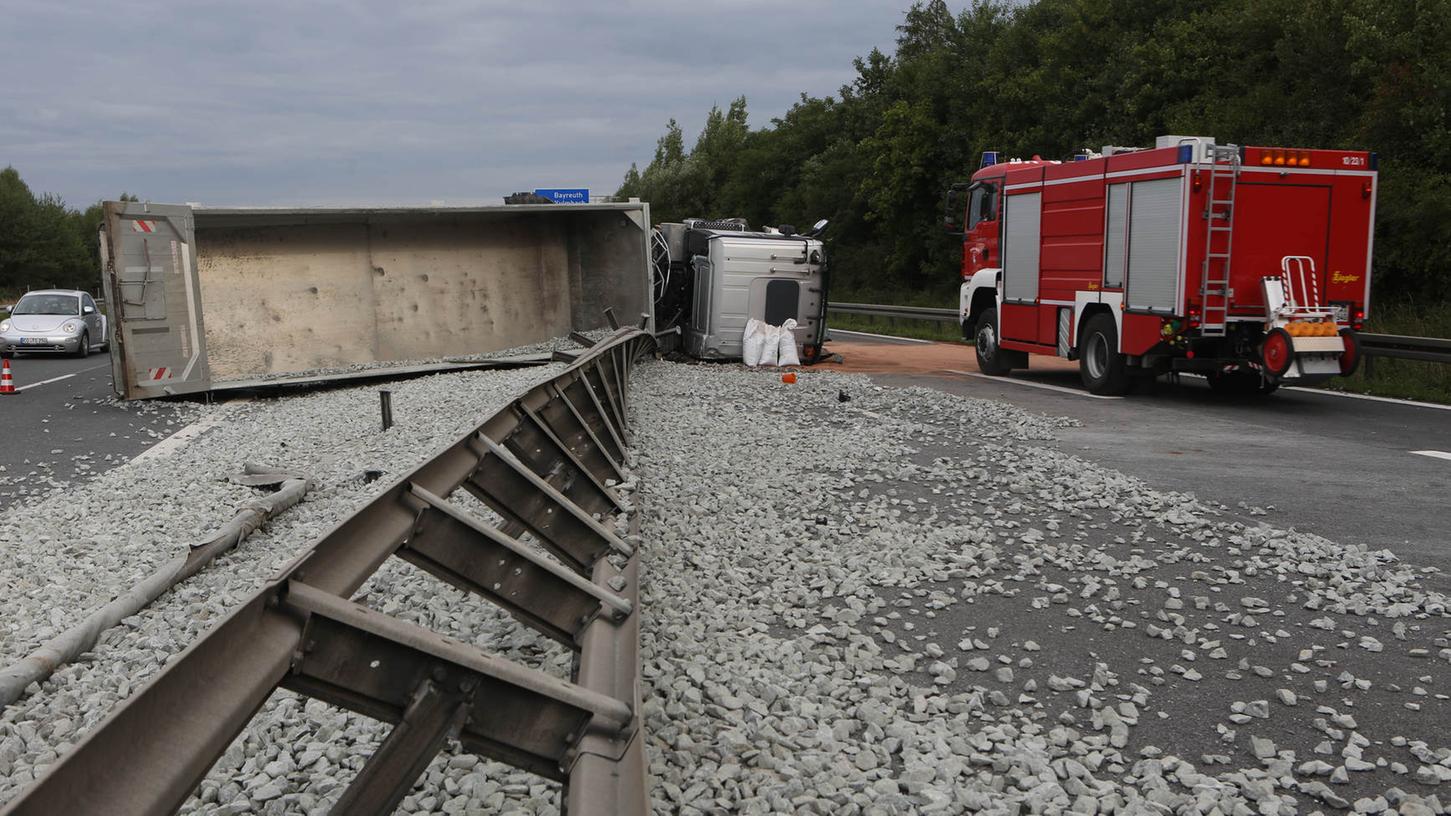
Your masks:
M 627 505 L 609 481 L 624 479 L 630 369 L 654 337 L 577 340 L 564 372 L 318 539 L 3 813 L 174 813 L 277 688 L 395 723 L 332 813 L 392 813 L 448 738 L 563 783 L 570 816 L 647 813 L 637 536 L 617 534 Z M 502 526 L 451 501 L 460 489 Z M 351 601 L 390 558 L 570 646 L 572 678 Z

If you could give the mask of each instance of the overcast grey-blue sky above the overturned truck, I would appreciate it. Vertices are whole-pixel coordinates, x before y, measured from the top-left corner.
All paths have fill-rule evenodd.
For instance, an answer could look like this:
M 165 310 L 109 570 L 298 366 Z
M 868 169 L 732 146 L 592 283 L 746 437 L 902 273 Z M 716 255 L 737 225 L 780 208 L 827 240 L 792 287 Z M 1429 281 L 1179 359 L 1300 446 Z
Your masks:
M 612 193 L 672 116 L 836 94 L 908 4 L 0 0 L 0 167 L 73 206 Z

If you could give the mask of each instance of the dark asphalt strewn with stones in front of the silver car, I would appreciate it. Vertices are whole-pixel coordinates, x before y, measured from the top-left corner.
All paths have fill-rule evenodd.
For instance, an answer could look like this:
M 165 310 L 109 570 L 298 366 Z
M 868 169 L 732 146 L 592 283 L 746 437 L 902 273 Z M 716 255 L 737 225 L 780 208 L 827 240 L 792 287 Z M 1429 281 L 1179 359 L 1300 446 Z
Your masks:
M 0 510 L 129 462 L 189 418 L 186 402 L 118 402 L 110 357 L 10 360 L 0 396 Z

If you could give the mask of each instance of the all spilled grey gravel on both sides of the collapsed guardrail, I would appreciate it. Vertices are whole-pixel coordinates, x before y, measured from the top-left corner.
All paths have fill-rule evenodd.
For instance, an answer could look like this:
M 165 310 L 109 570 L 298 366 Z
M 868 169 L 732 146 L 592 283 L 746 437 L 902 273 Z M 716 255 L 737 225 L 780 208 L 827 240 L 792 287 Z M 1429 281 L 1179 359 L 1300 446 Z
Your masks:
M 373 430 L 373 389 L 222 407 L 237 414 L 170 462 L 77 491 L 115 518 L 78 520 L 110 536 L 93 550 L 125 556 L 46 558 L 25 521 L 0 543 L 29 559 L 0 579 L 29 616 L 7 652 L 54 626 L 57 592 L 84 605 L 104 592 L 74 585 L 144 572 L 245 498 L 219 481 L 241 460 L 324 482 L 0 713 L 0 801 L 371 495 L 364 468 L 396 476 L 554 370 L 400 383 L 392 436 Z M 1058 452 L 1066 420 L 998 402 L 669 363 L 640 366 L 630 402 L 656 812 L 1444 810 L 1442 576 L 1154 491 Z M 132 537 L 147 499 L 177 514 L 168 546 Z M 569 669 L 566 650 L 402 562 L 360 601 Z M 184 812 L 325 813 L 386 732 L 277 693 Z M 557 813 L 559 791 L 450 746 L 402 810 Z

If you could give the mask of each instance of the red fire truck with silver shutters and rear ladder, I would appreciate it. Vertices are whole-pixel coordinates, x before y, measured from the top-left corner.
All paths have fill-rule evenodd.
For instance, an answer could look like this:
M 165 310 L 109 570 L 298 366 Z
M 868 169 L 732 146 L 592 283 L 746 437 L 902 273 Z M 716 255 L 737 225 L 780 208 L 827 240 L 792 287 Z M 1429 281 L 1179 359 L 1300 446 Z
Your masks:
M 1071 161 L 987 152 L 946 203 L 982 372 L 1056 354 L 1094 393 L 1168 372 L 1235 393 L 1349 375 L 1374 218 L 1371 152 L 1204 136 Z

